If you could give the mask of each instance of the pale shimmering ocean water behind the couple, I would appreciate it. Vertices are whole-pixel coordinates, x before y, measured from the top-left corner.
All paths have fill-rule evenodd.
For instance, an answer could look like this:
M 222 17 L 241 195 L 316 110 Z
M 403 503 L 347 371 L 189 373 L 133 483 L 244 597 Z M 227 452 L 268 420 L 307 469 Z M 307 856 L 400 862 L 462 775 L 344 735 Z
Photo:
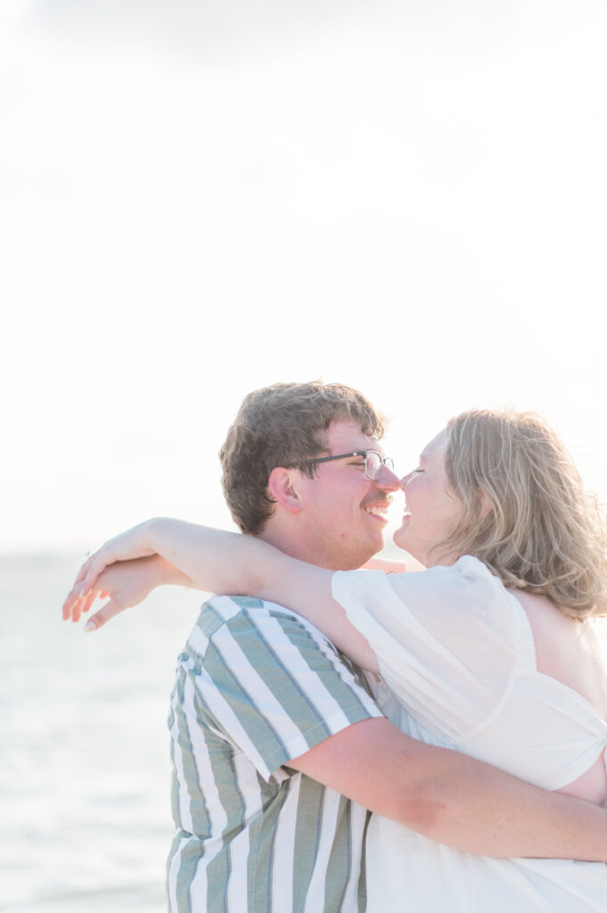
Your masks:
M 80 560 L 0 558 L 0 911 L 161 913 L 166 718 L 201 594 L 162 588 L 83 635 L 60 611 Z

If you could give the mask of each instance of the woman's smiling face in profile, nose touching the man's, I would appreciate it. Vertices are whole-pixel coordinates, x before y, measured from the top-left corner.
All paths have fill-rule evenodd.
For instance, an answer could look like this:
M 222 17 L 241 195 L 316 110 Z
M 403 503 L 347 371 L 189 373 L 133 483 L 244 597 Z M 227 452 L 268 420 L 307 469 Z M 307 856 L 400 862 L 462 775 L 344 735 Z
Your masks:
M 419 467 L 401 479 L 405 513 L 393 539 L 426 567 L 440 559 L 440 552 L 430 553 L 432 547 L 450 535 L 460 514 L 445 471 L 445 446 L 446 431 L 441 431 L 424 447 Z

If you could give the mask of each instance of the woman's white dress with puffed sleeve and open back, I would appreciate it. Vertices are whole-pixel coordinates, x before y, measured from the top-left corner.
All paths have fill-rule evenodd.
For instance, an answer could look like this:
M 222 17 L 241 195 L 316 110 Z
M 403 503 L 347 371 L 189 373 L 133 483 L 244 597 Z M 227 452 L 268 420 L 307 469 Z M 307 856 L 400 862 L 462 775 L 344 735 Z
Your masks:
M 337 572 L 333 596 L 374 650 L 404 732 L 557 790 L 597 761 L 607 722 L 540 673 L 527 615 L 466 555 L 421 573 Z M 460 853 L 373 816 L 367 913 L 605 913 L 607 866 Z

